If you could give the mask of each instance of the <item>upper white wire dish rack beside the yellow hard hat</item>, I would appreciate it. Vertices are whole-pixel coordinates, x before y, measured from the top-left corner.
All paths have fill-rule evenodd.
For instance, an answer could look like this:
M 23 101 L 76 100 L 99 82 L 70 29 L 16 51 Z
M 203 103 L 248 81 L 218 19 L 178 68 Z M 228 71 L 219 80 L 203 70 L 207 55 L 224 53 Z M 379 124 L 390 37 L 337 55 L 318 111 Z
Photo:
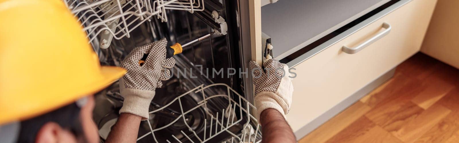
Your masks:
M 112 38 L 130 37 L 129 33 L 151 17 L 167 22 L 166 10 L 204 11 L 204 0 L 64 0 L 78 17 L 89 41 L 108 48 Z M 100 34 L 100 39 L 97 36 Z

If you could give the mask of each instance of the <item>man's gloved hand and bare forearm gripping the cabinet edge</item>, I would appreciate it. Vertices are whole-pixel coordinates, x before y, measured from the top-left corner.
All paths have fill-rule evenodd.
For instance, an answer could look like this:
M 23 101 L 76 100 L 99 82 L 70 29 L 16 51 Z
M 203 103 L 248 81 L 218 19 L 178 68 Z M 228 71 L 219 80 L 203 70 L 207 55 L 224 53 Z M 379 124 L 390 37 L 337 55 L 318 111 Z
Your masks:
M 277 60 L 267 60 L 264 69 L 250 61 L 255 84 L 255 117 L 261 124 L 263 143 L 296 143 L 291 127 L 285 121 L 290 110 L 293 85 L 288 66 Z

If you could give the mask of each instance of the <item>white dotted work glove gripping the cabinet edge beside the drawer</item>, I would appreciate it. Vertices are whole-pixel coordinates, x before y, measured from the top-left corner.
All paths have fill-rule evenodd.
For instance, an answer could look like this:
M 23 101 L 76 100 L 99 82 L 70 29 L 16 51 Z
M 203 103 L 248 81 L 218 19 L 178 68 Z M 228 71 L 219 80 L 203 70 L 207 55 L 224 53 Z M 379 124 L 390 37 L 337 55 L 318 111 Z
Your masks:
M 255 61 L 249 64 L 255 84 L 256 118 L 259 123 L 263 110 L 272 108 L 278 110 L 285 118 L 290 110 L 293 85 L 289 77 L 288 66 L 278 60 L 267 60 L 263 63 L 265 70 Z

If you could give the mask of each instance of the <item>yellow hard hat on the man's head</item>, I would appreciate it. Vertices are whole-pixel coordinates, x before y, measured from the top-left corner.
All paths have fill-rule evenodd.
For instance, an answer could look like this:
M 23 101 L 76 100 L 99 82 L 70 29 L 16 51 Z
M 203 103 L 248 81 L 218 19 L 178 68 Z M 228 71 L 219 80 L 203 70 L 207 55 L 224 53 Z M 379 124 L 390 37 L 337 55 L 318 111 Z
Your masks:
M 100 65 L 61 0 L 0 0 L 0 125 L 58 109 L 125 72 Z

